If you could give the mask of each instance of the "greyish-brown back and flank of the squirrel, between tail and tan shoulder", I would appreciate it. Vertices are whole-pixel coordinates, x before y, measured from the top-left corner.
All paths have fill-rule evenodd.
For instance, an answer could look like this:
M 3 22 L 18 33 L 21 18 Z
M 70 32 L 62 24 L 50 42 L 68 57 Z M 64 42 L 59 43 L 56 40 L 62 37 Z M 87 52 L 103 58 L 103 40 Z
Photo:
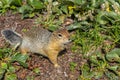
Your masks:
M 48 44 L 51 32 L 43 28 L 33 28 L 23 33 L 21 48 L 26 48 L 30 52 L 42 54 L 42 48 Z M 43 53 L 44 55 L 45 53 Z

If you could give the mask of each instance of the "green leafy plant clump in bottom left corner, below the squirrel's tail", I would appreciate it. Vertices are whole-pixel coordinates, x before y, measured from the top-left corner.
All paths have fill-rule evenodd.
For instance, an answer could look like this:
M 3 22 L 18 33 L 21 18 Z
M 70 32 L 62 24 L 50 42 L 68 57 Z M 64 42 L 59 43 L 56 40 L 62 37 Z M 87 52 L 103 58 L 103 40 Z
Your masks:
M 18 62 L 23 67 L 27 67 L 25 63 L 27 58 L 27 55 L 22 55 L 19 52 L 14 53 L 9 48 L 0 48 L 0 79 L 16 80 L 15 70 L 17 68 L 12 63 Z

